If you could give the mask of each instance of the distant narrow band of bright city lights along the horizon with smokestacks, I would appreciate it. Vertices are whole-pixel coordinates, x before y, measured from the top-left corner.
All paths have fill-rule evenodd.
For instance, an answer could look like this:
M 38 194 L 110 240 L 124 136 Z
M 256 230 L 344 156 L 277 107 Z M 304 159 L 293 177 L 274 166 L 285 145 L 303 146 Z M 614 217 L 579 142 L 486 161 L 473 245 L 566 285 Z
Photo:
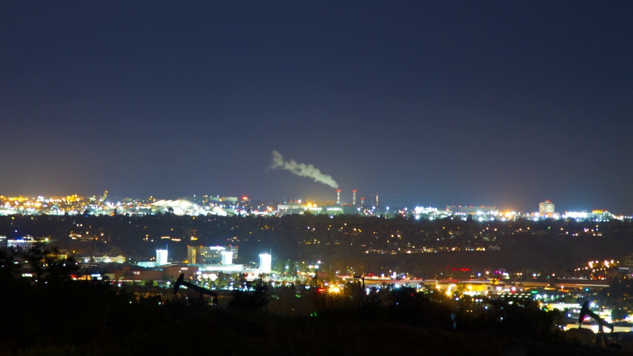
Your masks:
M 448 206 L 445 209 L 434 207 L 377 207 L 377 205 L 356 205 L 356 191 L 354 190 L 354 203 L 352 204 L 335 204 L 334 201 L 325 202 L 302 202 L 301 200 L 290 201 L 284 203 L 269 202 L 266 204 L 263 200 L 253 201 L 248 196 L 241 198 L 232 196 L 207 196 L 202 195 L 199 198 L 191 196 L 187 198 L 179 198 L 176 200 L 156 200 L 149 197 L 146 200 L 135 198 L 123 198 L 122 201 L 108 201 L 106 199 L 108 191 L 101 197 L 91 196 L 85 198 L 77 196 L 77 194 L 66 197 L 48 197 L 37 196 L 28 198 L 5 197 L 0 196 L 0 214 L 24 214 L 24 215 L 156 215 L 170 213 L 173 215 L 263 215 L 277 216 L 284 214 L 325 214 L 325 215 L 341 215 L 341 214 L 359 214 L 362 216 L 380 216 L 394 217 L 413 216 L 415 219 L 444 219 L 446 217 L 457 217 L 467 219 L 468 216 L 482 220 L 514 220 L 517 218 L 529 217 L 534 220 L 541 219 L 575 219 L 575 220 L 594 220 L 608 221 L 613 219 L 624 220 L 631 219 L 630 215 L 614 215 L 607 210 L 585 210 L 582 212 L 563 212 L 556 213 L 554 211 L 554 203 L 547 200 L 539 203 L 537 212 L 515 212 L 501 211 L 496 207 L 480 207 L 477 206 Z M 340 190 L 337 191 L 337 201 L 340 201 Z

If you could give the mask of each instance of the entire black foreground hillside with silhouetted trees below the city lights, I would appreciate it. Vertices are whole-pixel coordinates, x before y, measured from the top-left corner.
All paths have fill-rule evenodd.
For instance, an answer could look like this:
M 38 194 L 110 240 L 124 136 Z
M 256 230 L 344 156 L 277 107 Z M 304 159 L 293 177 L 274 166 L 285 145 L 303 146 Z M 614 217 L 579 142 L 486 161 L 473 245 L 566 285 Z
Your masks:
M 556 314 L 534 304 L 491 304 L 475 315 L 408 288 L 363 306 L 345 295 L 316 298 L 313 314 L 300 316 L 248 303 L 189 306 L 111 284 L 0 277 L 0 355 L 610 354 L 591 346 L 592 335 L 565 337 Z

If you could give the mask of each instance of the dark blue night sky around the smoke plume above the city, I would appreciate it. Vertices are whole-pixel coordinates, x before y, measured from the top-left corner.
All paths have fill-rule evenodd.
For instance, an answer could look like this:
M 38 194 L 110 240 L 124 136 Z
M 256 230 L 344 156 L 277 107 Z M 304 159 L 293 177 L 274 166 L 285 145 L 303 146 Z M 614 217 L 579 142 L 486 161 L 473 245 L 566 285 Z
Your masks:
M 633 213 L 632 1 L 186 4 L 0 4 L 0 194 Z

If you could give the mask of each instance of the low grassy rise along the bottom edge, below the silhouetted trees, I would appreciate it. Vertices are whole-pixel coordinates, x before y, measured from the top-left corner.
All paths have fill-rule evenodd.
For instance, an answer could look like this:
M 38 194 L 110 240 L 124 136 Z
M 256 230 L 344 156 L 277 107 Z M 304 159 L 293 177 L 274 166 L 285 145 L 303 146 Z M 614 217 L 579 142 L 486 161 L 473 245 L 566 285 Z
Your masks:
M 149 322 L 149 321 L 147 321 Z M 80 333 L 84 334 L 84 333 Z M 392 323 L 235 317 L 120 326 L 89 338 L 70 331 L 63 340 L 32 340 L 3 355 L 620 355 L 590 346 L 529 338 L 463 334 Z

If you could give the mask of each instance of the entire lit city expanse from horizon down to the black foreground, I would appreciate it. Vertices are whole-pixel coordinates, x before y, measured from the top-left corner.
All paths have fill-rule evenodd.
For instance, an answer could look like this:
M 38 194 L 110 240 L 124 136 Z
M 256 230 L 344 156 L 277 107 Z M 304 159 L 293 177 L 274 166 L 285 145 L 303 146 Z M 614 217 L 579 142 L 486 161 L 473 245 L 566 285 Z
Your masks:
M 534 305 L 558 315 L 556 329 L 570 333 L 595 310 L 599 322 L 582 325 L 592 334 L 601 335 L 600 323 L 633 331 L 633 305 L 613 289 L 614 280 L 633 278 L 633 244 L 621 239 L 633 234 L 630 216 L 558 213 L 550 200 L 534 212 L 342 204 L 340 193 L 338 204 L 207 195 L 111 201 L 107 191 L 3 196 L 0 250 L 17 253 L 23 278 L 41 276 L 26 258 L 43 248 L 51 261 L 77 261 L 73 283 L 108 283 L 160 303 L 184 283 L 213 296 L 200 296 L 203 303 L 234 308 L 232 293 L 257 295 L 265 284 L 266 310 L 307 315 L 341 298 L 388 305 L 402 289 L 476 314 L 498 303 Z M 587 243 L 596 248 L 582 250 Z

